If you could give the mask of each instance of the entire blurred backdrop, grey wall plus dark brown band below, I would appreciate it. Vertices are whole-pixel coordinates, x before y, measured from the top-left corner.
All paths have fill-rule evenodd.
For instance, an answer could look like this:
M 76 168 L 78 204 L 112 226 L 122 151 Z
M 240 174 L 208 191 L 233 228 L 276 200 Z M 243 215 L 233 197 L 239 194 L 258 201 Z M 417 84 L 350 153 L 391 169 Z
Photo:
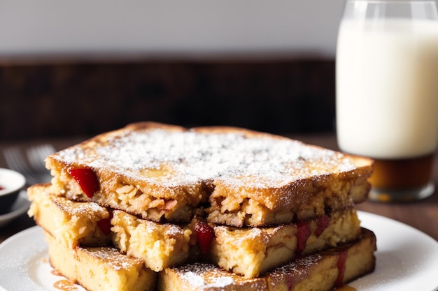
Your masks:
M 176 33 L 185 37 L 175 39 L 172 29 L 181 20 L 168 27 L 162 17 L 149 18 L 144 28 L 136 24 L 138 31 L 128 22 L 132 27 L 126 31 L 137 33 L 128 37 L 122 29 L 108 34 L 121 22 L 115 25 L 103 14 L 83 15 L 85 6 L 0 1 L 0 139 L 94 135 L 145 120 L 271 133 L 332 131 L 334 47 L 343 1 L 330 6 L 323 0 L 290 2 L 267 6 L 254 1 L 250 9 L 240 3 L 233 9 L 242 14 L 234 16 L 225 4 L 214 7 L 216 13 L 193 6 L 200 9 L 194 15 L 210 14 L 191 20 Z M 44 3 L 50 9 L 41 8 Z M 87 2 L 76 5 L 81 3 Z M 114 5 L 108 6 L 113 15 L 121 4 Z M 136 5 L 119 14 L 153 3 Z M 189 10 L 175 9 L 173 18 L 182 13 L 188 19 Z M 167 10 L 160 7 L 152 14 Z M 69 20 L 67 13 L 82 20 Z M 217 14 L 222 18 L 207 21 Z M 97 24 L 91 21 L 96 19 Z M 135 15 L 124 18 L 130 19 Z M 143 43 L 131 41 L 154 25 L 161 38 L 148 34 Z M 101 36 L 99 41 L 93 33 Z

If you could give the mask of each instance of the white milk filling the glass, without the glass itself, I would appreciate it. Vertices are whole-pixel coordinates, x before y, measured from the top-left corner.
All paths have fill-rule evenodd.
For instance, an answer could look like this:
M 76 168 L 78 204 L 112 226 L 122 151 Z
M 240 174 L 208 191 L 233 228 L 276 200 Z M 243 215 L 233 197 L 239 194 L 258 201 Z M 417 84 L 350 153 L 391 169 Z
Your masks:
M 438 143 L 438 22 L 344 20 L 337 43 L 339 147 L 373 158 Z

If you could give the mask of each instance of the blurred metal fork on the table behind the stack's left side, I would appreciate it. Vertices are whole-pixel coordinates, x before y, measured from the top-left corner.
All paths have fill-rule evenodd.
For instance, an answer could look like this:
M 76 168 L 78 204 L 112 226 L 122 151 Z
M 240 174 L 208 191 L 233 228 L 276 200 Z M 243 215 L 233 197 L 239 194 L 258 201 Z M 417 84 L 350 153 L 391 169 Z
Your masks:
M 50 144 L 41 144 L 30 147 L 26 156 L 17 147 L 10 147 L 3 151 L 3 156 L 10 169 L 20 172 L 26 177 L 28 185 L 46 183 L 51 179 L 50 172 L 45 168 L 44 159 L 55 152 Z

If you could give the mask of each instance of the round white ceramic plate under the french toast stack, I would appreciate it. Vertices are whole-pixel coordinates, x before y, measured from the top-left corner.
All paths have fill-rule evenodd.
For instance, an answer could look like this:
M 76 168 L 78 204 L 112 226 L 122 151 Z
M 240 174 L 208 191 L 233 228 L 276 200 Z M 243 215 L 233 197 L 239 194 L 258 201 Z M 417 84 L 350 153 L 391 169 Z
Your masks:
M 438 242 L 389 218 L 359 211 L 362 226 L 377 236 L 374 273 L 348 285 L 359 291 L 438 290 Z M 39 227 L 31 227 L 0 245 L 0 290 L 59 291 L 51 274 L 47 244 Z M 79 288 L 77 290 L 83 290 Z

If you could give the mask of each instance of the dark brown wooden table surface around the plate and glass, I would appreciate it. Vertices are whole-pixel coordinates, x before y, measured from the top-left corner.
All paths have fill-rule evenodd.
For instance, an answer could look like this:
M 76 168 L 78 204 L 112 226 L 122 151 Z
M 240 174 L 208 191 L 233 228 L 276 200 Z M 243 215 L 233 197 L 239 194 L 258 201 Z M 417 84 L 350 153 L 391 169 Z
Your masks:
M 312 135 L 291 135 L 292 137 L 303 140 L 311 144 L 317 144 L 329 149 L 337 149 L 337 142 L 334 133 L 312 134 Z M 76 144 L 85 140 L 85 137 L 72 137 L 52 140 L 24 140 L 17 142 L 0 142 L 0 152 L 10 146 L 17 146 L 25 149 L 34 144 L 50 142 L 57 150 L 64 149 L 69 145 Z M 438 159 L 437 159 L 438 160 Z M 0 154 L 0 167 L 6 167 L 3 154 Z M 434 181 L 438 183 L 438 161 L 435 161 Z M 365 202 L 359 204 L 357 208 L 373 214 L 379 214 L 388 218 L 411 225 L 412 227 L 425 232 L 438 241 L 438 191 L 424 200 L 401 204 L 383 204 L 377 202 Z M 35 225 L 34 221 L 27 217 L 27 214 L 16 218 L 10 224 L 0 228 L 0 242 L 11 235 Z

